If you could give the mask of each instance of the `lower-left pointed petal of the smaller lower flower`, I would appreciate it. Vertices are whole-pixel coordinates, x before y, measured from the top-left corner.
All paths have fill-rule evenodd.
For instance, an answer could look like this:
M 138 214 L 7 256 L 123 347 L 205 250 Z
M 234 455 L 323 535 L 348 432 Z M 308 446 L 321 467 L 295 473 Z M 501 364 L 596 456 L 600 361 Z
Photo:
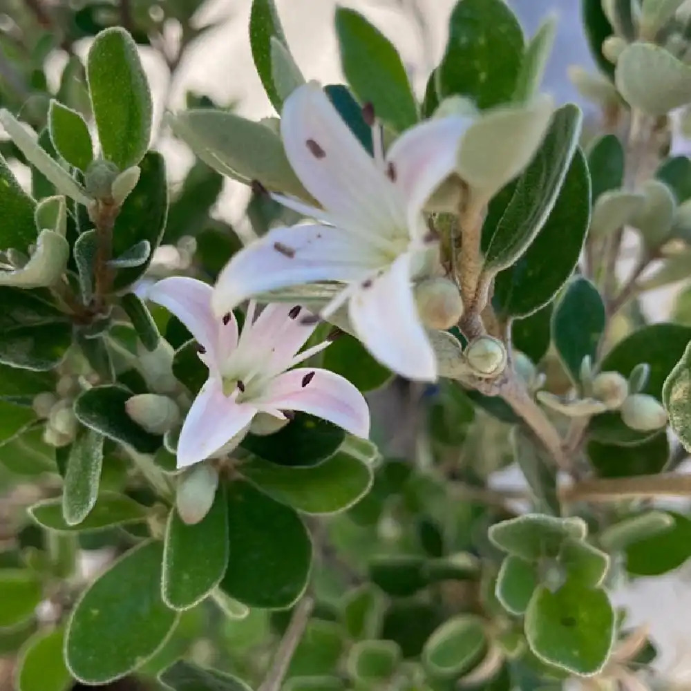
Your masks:
M 209 377 L 182 424 L 178 468 L 186 468 L 216 453 L 252 422 L 256 412 L 252 404 L 238 404 L 223 395 L 222 381 Z

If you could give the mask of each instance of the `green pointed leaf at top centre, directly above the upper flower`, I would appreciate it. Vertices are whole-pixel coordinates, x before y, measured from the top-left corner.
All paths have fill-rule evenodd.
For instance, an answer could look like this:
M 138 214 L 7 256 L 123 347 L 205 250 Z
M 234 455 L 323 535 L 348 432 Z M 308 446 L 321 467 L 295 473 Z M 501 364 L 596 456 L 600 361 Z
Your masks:
M 341 64 L 361 103 L 371 103 L 377 117 L 402 132 L 417 122 L 417 104 L 406 68 L 393 44 L 355 10 L 336 10 Z

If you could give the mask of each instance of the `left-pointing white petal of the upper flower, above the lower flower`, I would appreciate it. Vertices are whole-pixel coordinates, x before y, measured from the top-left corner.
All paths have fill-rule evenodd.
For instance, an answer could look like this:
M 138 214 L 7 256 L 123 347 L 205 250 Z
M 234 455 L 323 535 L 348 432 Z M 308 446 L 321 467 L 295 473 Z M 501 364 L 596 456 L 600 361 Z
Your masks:
M 357 281 L 383 263 L 381 254 L 339 228 L 278 227 L 241 249 L 218 276 L 217 315 L 258 293 L 310 281 Z

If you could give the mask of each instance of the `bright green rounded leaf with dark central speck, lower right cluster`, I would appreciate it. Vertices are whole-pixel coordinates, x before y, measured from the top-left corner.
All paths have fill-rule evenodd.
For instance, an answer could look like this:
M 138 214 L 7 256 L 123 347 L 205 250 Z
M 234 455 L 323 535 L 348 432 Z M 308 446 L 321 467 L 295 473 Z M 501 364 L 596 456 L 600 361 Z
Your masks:
M 525 633 L 538 658 L 575 674 L 596 674 L 612 650 L 615 614 L 604 590 L 567 581 L 556 593 L 540 586 L 525 615 Z

